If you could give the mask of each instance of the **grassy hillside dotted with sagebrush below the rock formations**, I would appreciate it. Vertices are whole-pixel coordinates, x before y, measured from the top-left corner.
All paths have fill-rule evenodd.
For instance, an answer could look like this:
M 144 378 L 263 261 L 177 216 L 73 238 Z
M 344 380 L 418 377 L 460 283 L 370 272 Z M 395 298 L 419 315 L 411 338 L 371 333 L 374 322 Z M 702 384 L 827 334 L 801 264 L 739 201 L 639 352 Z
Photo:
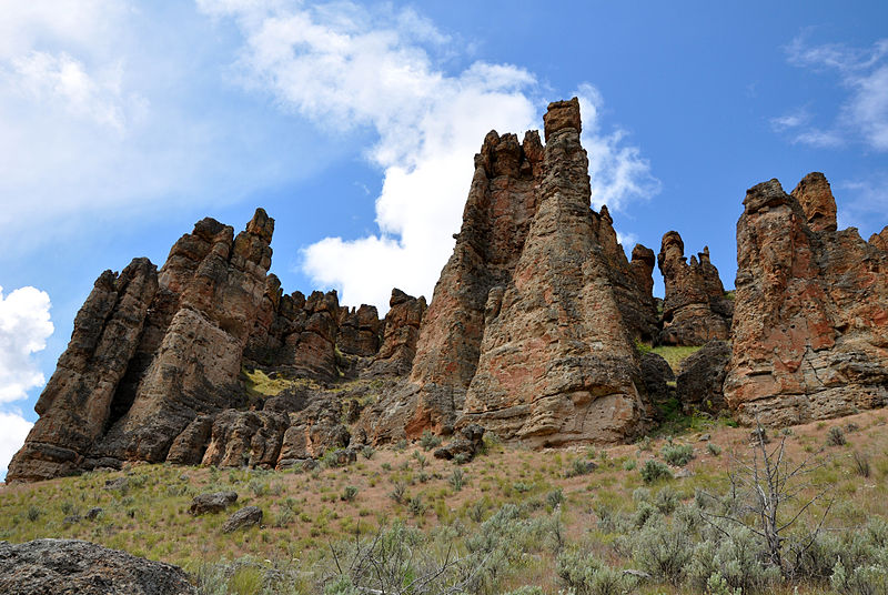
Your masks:
M 739 468 L 735 457 L 748 462 L 753 451 L 747 428 L 730 427 L 724 420 L 678 421 L 690 427 L 675 436 L 674 444 L 689 445 L 694 458 L 683 466 L 670 465 L 674 478 L 652 483 L 645 483 L 639 470 L 649 460 L 664 460 L 669 444 L 666 437 L 606 448 L 544 451 L 486 441 L 484 454 L 464 464 L 435 458 L 421 443 L 412 443 L 376 451 L 369 447 L 357 462 L 345 466 L 327 458 L 310 472 L 132 464 L 122 472 L 98 471 L 6 486 L 0 492 L 0 538 L 71 537 L 125 549 L 181 565 L 202 593 L 320 593 L 324 584 L 332 588 L 329 585 L 339 574 L 331 552 L 347 549 L 355 539 L 372 539 L 385 527 L 411 551 L 410 558 L 398 563 L 404 579 L 423 571 L 426 556 L 441 564 L 446 547 L 453 546 L 452 556 L 468 556 L 473 564 L 482 565 L 477 589 L 471 593 L 504 593 L 522 585 L 557 593 L 568 586 L 559 578 L 564 566 L 571 556 L 579 555 L 592 555 L 608 567 L 653 575 L 639 579 L 632 593 L 700 593 L 699 581 L 707 581 L 708 575 L 700 578 L 703 571 L 690 572 L 702 564 L 705 553 L 694 544 L 703 536 L 716 539 L 700 516 L 700 511 L 713 511 L 703 492 L 726 495 L 727 472 Z M 817 559 L 807 561 L 804 576 L 790 583 L 798 586 L 797 593 L 829 592 L 837 556 L 851 567 L 885 555 L 885 424 L 884 412 L 868 412 L 783 432 L 790 461 L 799 462 L 823 447 L 825 462 L 810 477 L 815 486 L 799 494 L 797 502 L 787 503 L 785 514 L 806 503 L 817 486 L 828 488 L 831 502 L 810 554 Z M 847 444 L 827 445 L 834 427 L 841 428 Z M 709 440 L 702 440 L 706 435 Z M 777 445 L 775 440 L 768 448 Z M 869 475 L 861 475 L 856 461 L 870 462 Z M 223 490 L 239 495 L 228 513 L 259 506 L 261 525 L 224 534 L 221 526 L 228 513 L 188 514 L 193 496 Z M 398 491 L 403 494 L 396 502 Z M 826 503 L 827 498 L 817 502 L 800 525 L 816 524 Z M 698 508 L 700 504 L 703 508 Z M 93 507 L 101 512 L 85 518 Z M 664 526 L 679 523 L 694 525 L 680 537 L 687 543 L 676 544 L 686 551 L 675 553 L 687 555 L 689 565 L 677 577 L 658 575 L 644 542 L 633 538 L 638 532 L 650 538 L 659 535 L 657 531 L 667 531 Z M 871 552 L 860 542 L 866 541 L 864 527 L 874 532 L 876 542 L 867 546 Z M 481 544 L 481 538 L 491 542 Z M 840 545 L 850 541 L 854 551 Z M 747 562 L 751 568 L 743 572 L 758 573 L 758 581 L 761 566 L 755 551 L 748 555 L 753 556 Z M 349 554 L 343 556 L 352 562 Z M 722 568 L 725 572 L 726 567 Z M 725 576 L 739 581 L 736 573 L 726 572 Z M 790 585 L 765 582 L 749 592 L 789 594 L 794 593 Z M 365 577 L 364 586 L 373 587 L 373 579 Z M 438 587 L 433 583 L 418 593 L 443 593 Z

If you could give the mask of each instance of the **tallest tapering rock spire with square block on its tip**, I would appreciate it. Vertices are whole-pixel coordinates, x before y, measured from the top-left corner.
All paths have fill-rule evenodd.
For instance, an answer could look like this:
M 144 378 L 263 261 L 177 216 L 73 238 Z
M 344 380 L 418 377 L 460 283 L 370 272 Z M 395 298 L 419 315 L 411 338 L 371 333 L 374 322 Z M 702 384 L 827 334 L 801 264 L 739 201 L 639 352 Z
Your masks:
M 645 405 L 589 209 L 577 100 L 552 103 L 545 124 L 539 204 L 512 279 L 488 292 L 463 423 L 537 446 L 619 441 Z

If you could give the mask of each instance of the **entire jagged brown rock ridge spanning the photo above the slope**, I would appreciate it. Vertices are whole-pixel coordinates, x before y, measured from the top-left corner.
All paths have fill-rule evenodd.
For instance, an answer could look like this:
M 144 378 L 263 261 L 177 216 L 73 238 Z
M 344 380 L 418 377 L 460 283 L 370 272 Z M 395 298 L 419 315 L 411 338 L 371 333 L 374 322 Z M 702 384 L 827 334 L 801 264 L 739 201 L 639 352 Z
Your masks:
M 544 123 L 545 144 L 536 131 L 484 139 L 428 305 L 393 290 L 381 320 L 335 292 L 285 294 L 262 209 L 236 235 L 198 222 L 160 271 L 147 259 L 105 271 L 8 480 L 129 461 L 310 468 L 425 432 L 456 434 L 441 451 L 452 456 L 485 431 L 533 447 L 614 443 L 675 400 L 767 424 L 885 403 L 888 228 L 869 242 L 837 231 L 823 174 L 791 194 L 759 184 L 737 225 L 731 301 L 708 249 L 688 262 L 677 232 L 628 260 L 607 208 L 591 208 L 577 100 Z M 674 371 L 643 353 L 657 343 L 706 346 Z

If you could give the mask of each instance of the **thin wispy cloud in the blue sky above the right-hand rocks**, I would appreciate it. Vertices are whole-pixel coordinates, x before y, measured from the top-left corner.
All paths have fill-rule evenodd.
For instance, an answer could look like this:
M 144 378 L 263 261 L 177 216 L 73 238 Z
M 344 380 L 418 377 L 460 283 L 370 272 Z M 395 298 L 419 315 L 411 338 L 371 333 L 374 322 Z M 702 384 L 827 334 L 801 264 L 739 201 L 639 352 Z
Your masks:
M 860 140 L 877 151 L 888 151 L 888 39 L 871 48 L 852 48 L 842 43 L 811 44 L 803 34 L 787 47 L 790 64 L 839 78 L 846 95 L 824 130 L 813 128 L 795 135 L 795 142 L 819 148 L 835 148 L 848 140 Z M 804 118 L 787 114 L 771 124 L 777 131 L 791 131 L 806 125 Z

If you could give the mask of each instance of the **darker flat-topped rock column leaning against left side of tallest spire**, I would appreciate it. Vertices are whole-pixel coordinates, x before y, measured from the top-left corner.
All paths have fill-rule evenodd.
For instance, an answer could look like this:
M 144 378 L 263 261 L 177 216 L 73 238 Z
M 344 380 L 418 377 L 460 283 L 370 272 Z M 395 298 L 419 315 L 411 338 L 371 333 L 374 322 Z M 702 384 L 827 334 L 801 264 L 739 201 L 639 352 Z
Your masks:
M 542 161 L 535 131 L 522 143 L 496 132 L 484 139 L 463 226 L 423 319 L 412 384 L 393 418 L 381 422 L 384 432 L 453 431 L 481 355 L 488 294 L 508 281 L 536 211 Z

